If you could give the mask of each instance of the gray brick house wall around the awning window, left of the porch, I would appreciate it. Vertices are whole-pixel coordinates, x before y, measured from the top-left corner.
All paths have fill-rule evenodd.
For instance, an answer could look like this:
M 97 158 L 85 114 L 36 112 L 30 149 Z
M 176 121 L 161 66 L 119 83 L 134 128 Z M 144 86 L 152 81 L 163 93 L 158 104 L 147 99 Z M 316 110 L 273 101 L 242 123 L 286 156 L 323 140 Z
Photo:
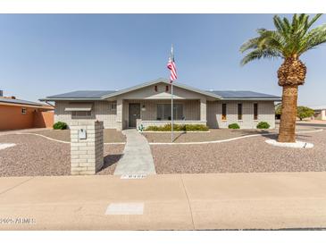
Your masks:
M 69 101 L 56 101 L 54 110 L 54 122 L 66 122 L 68 126 L 72 121 L 76 120 L 98 120 L 104 122 L 105 129 L 115 129 L 117 127 L 116 122 L 116 110 L 113 110 L 111 104 L 116 103 L 115 101 L 94 101 L 84 102 L 92 103 L 92 111 L 90 117 L 72 118 L 71 112 L 64 111 L 64 108 L 70 105 Z

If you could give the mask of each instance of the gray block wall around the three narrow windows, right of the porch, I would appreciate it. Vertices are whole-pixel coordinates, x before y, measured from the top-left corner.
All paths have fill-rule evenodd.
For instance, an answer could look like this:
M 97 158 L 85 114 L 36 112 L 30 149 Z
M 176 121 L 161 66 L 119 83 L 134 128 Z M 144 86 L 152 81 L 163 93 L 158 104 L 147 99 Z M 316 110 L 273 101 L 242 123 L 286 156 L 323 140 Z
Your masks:
M 258 120 L 254 120 L 254 103 L 258 103 Z M 222 104 L 227 105 L 227 120 L 222 121 Z M 238 120 L 238 104 L 242 104 L 242 120 Z M 237 122 L 241 129 L 255 129 L 258 122 L 268 122 L 275 128 L 274 103 L 272 101 L 214 101 L 207 102 L 207 126 L 228 128 Z

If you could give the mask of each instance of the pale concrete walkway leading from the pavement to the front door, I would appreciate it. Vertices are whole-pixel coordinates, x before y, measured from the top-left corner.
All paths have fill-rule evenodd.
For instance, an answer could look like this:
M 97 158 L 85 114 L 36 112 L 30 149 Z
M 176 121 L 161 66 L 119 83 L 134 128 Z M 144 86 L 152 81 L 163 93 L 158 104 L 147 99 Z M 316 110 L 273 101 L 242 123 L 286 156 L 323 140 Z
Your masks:
M 114 175 L 155 174 L 153 156 L 146 138 L 134 129 L 122 133 L 126 135 L 127 143 Z

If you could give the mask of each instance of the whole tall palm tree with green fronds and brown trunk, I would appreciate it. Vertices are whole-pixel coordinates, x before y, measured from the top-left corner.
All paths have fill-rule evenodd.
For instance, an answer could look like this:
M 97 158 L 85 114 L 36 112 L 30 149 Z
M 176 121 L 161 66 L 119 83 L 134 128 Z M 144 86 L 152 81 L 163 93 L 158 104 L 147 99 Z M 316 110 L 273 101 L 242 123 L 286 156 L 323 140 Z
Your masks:
M 279 85 L 282 87 L 282 114 L 278 141 L 296 141 L 297 87 L 305 83 L 305 64 L 300 56 L 306 51 L 326 42 L 326 24 L 311 29 L 322 14 L 311 20 L 307 14 L 294 14 L 292 21 L 273 17 L 276 30 L 257 30 L 258 37 L 249 39 L 240 47 L 242 53 L 250 51 L 241 64 L 261 58 L 282 58 L 284 62 L 278 71 Z

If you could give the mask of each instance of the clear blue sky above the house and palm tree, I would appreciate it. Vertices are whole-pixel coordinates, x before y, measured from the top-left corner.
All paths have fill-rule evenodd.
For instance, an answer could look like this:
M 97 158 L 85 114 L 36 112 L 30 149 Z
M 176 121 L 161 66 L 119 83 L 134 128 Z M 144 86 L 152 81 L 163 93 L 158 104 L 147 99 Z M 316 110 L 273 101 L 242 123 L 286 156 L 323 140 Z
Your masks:
M 239 46 L 262 27 L 273 29 L 272 14 L 0 14 L 0 89 L 36 101 L 167 78 L 173 43 L 183 83 L 280 95 L 281 60 L 239 65 Z M 326 45 L 302 56 L 299 104 L 326 104 L 325 57 Z

